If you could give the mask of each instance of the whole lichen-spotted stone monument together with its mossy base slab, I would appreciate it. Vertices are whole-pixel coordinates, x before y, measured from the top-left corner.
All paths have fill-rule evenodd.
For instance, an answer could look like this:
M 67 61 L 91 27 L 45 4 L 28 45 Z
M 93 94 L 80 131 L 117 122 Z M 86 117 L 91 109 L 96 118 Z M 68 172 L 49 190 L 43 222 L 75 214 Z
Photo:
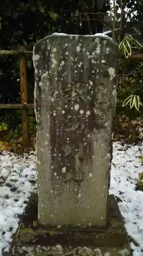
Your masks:
M 35 45 L 38 196 L 28 202 L 14 256 L 130 255 L 108 196 L 117 55 L 103 34 L 52 34 Z

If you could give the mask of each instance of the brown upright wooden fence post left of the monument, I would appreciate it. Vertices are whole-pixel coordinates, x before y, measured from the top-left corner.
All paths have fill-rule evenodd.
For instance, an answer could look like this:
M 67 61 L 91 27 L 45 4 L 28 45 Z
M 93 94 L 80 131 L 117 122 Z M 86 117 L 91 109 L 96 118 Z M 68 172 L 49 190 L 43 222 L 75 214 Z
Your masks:
M 20 47 L 20 50 L 25 50 L 24 46 Z M 21 103 L 27 103 L 27 75 L 26 75 L 26 60 L 23 55 L 20 56 L 19 63 L 19 72 L 20 72 L 20 94 L 21 94 Z M 28 110 L 23 108 L 22 110 L 22 131 L 23 131 L 23 145 L 25 147 L 29 144 L 29 117 Z

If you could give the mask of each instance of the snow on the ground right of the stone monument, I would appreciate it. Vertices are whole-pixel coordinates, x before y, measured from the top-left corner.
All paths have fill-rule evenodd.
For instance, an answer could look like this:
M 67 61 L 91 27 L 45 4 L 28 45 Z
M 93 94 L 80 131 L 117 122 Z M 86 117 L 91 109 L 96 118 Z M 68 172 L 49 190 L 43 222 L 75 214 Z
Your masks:
M 115 143 L 111 166 L 110 194 L 120 198 L 119 208 L 125 219 L 125 227 L 132 243 L 133 256 L 143 255 L 143 192 L 135 191 L 138 174 L 142 172 L 139 156 L 143 153 L 140 145 Z

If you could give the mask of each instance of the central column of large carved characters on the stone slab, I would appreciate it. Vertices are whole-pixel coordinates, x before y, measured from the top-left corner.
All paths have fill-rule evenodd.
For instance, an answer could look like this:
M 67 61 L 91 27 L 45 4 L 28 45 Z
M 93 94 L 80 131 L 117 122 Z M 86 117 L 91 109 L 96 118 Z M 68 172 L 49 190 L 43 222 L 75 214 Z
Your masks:
M 66 169 L 65 182 L 69 179 L 79 182 L 83 180 L 82 164 L 90 151 L 90 90 L 87 83 L 76 81 L 66 83 L 61 90 L 64 98 L 61 111 L 64 115 L 62 129 L 56 139 L 58 150 L 62 149 L 60 162 Z

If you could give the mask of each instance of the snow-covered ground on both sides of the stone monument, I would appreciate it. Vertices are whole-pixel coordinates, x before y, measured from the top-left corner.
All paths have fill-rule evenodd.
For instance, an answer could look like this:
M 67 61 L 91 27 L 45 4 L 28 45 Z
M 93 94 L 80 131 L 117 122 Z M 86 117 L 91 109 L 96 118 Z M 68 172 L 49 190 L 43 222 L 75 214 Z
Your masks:
M 140 145 L 113 144 L 110 193 L 121 199 L 121 213 L 125 219 L 128 234 L 136 242 L 131 244 L 134 256 L 143 256 L 143 193 L 135 191 L 138 173 L 143 165 Z M 2 250 L 9 250 L 12 234 L 18 227 L 19 215 L 26 206 L 26 200 L 36 189 L 35 154 L 19 157 L 3 152 L 0 155 L 0 256 Z

